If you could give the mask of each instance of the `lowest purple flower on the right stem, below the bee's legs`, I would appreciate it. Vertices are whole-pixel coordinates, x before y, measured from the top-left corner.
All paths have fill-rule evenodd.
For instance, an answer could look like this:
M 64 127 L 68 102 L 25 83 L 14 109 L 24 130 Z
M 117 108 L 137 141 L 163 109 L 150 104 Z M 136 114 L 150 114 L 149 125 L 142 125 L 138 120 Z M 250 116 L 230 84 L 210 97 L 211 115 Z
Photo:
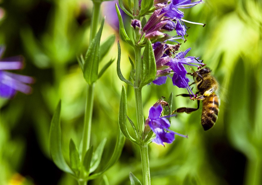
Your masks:
M 146 122 L 148 123 L 151 130 L 156 134 L 156 137 L 152 140 L 152 142 L 165 146 L 164 143 L 172 143 L 175 140 L 175 134 L 182 137 L 187 137 L 169 130 L 170 122 L 166 119 L 166 117 L 160 117 L 162 111 L 163 107 L 161 104 L 156 104 L 156 107 L 152 106 L 149 109 L 149 116 L 147 119 L 148 121 Z

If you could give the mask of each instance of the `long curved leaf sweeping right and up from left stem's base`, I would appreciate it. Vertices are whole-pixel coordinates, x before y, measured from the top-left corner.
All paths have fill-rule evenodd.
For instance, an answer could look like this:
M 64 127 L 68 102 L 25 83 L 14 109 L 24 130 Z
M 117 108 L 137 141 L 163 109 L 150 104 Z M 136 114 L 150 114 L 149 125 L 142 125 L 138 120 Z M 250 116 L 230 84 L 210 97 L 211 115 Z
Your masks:
M 116 161 L 119 159 L 119 157 L 122 153 L 122 150 L 123 150 L 123 147 L 124 147 L 124 144 L 125 144 L 125 138 L 126 137 L 123 135 L 123 133 L 119 129 L 118 130 L 118 137 L 117 137 L 117 140 L 116 140 L 116 146 L 115 146 L 114 152 L 112 154 L 112 157 L 110 158 L 108 164 L 106 164 L 106 166 L 104 167 L 104 169 L 102 171 L 100 171 L 98 173 L 94 173 L 94 174 L 89 176 L 90 180 L 96 179 L 97 177 L 102 175 L 106 170 L 108 170 L 110 167 L 112 167 L 116 163 Z

